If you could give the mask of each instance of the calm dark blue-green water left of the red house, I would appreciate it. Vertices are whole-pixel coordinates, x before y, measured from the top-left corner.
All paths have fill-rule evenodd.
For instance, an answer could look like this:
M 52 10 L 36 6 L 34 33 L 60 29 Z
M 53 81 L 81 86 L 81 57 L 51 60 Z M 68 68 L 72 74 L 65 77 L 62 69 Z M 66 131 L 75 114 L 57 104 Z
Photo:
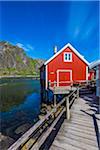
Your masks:
M 19 138 L 38 120 L 40 106 L 38 80 L 0 79 L 0 132 L 4 135 Z

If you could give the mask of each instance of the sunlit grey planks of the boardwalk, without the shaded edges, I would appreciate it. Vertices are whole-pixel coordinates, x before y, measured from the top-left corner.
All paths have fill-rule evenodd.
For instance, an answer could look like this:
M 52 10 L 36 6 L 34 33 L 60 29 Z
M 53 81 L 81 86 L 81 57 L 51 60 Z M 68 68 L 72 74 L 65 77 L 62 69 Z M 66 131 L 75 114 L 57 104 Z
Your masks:
M 71 118 L 64 120 L 50 150 L 98 150 L 93 115 L 88 101 L 75 100 Z

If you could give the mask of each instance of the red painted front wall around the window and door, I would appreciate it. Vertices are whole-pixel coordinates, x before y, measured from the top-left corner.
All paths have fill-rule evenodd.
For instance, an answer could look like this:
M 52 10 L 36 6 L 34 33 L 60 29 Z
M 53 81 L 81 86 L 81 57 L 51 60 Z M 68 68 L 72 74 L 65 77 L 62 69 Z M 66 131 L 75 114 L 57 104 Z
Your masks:
M 64 62 L 64 52 L 72 52 L 72 62 Z M 86 64 L 70 48 L 66 48 L 47 64 L 48 81 L 57 81 L 57 70 L 72 70 L 72 80 L 86 80 Z

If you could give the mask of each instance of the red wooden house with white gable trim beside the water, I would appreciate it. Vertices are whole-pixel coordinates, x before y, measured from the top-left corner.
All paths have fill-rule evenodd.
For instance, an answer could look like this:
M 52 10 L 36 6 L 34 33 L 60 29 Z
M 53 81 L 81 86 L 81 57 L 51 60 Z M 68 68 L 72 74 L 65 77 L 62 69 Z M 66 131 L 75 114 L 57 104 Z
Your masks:
M 48 89 L 48 82 L 67 86 L 73 81 L 88 80 L 88 66 L 88 61 L 68 43 L 40 68 L 41 92 Z

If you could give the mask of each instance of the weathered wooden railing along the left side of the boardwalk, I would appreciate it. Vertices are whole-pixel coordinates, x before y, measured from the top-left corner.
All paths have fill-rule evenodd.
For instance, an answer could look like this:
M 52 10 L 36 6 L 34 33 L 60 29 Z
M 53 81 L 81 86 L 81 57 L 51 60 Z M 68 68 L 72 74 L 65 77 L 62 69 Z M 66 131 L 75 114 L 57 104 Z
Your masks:
M 38 130 L 43 128 L 43 124 L 50 119 L 50 116 L 54 116 L 54 119 L 51 124 L 49 124 L 47 127 L 44 127 L 43 132 L 39 137 L 33 140 L 31 144 L 28 144 L 28 149 L 31 150 L 38 150 L 41 145 L 44 143 L 46 138 L 49 136 L 51 131 L 53 130 L 54 126 L 58 122 L 58 120 L 61 118 L 64 112 L 66 112 L 66 119 L 70 119 L 70 107 L 74 100 L 79 97 L 79 89 L 77 88 L 74 90 L 69 96 L 64 97 L 58 104 L 54 106 L 54 108 L 48 112 L 41 120 L 39 120 L 34 126 L 32 126 L 22 137 L 20 137 L 8 150 L 17 150 L 22 149 L 22 147 L 25 147 L 30 140 L 32 140 L 35 136 L 35 133 L 37 133 Z M 65 103 L 65 106 L 63 105 Z M 60 111 L 59 111 L 60 110 Z M 46 131 L 45 131 L 46 130 Z

